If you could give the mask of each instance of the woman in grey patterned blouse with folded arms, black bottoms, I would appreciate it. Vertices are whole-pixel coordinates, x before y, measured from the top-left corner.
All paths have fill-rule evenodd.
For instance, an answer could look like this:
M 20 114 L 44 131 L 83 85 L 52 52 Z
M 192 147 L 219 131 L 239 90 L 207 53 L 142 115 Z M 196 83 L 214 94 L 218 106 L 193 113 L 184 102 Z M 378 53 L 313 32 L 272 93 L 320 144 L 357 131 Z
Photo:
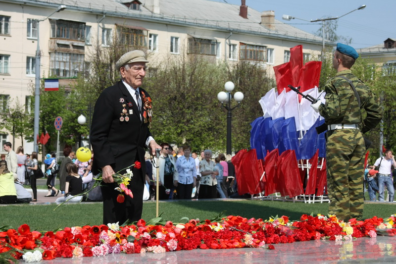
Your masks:
M 217 167 L 211 160 L 212 151 L 205 150 L 203 152 L 204 159 L 199 162 L 199 172 L 201 173 L 198 199 L 215 199 L 217 198 L 217 180 L 216 176 L 219 175 Z

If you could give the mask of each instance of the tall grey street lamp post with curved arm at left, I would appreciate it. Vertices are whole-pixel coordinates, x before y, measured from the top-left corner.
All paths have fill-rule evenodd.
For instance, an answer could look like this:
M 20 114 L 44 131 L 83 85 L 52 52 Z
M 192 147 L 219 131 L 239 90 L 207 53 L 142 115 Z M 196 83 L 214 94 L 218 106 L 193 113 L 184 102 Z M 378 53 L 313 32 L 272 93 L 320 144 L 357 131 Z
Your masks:
M 34 100 L 34 133 L 33 133 L 33 150 L 39 153 L 37 136 L 39 135 L 40 120 L 40 22 L 46 20 L 56 12 L 66 9 L 66 5 L 61 4 L 58 8 L 44 19 L 37 19 L 37 49 L 36 49 L 36 83 L 35 83 L 35 100 Z

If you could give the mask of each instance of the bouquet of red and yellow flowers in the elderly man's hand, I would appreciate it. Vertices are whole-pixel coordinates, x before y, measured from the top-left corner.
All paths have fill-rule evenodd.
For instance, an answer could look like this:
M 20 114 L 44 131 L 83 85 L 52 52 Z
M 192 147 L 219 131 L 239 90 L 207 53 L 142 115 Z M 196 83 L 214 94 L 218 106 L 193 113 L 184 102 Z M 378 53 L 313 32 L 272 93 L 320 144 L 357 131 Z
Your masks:
M 126 167 L 126 168 L 123 168 L 123 169 L 119 170 L 118 172 L 116 172 L 116 173 L 114 173 L 112 175 L 114 182 L 118 184 L 118 187 L 116 187 L 115 190 L 120 192 L 120 194 L 117 196 L 117 202 L 118 203 L 124 203 L 124 201 L 125 201 L 125 196 L 124 195 L 128 195 L 129 197 L 133 198 L 133 193 L 131 192 L 131 190 L 128 189 L 129 181 L 133 177 L 133 173 L 132 173 L 132 170 L 130 168 L 133 167 L 133 166 L 135 166 L 135 168 L 137 168 L 137 169 L 140 169 L 142 167 L 142 165 L 141 165 L 141 163 L 139 161 L 135 161 L 135 163 L 133 163 L 132 165 L 130 165 L 130 166 Z M 126 172 L 124 174 L 121 174 L 120 171 L 123 171 L 125 169 L 126 169 Z M 100 172 L 98 174 L 98 176 L 96 178 L 94 178 L 94 179 L 95 179 L 95 184 L 92 186 L 91 189 L 83 191 L 82 193 L 79 193 L 76 196 L 89 195 L 89 193 L 93 189 L 95 189 L 98 186 L 102 186 L 103 185 L 102 172 Z M 73 197 L 70 197 L 69 199 L 67 199 L 63 203 L 59 204 L 53 211 L 55 211 L 58 207 L 60 207 L 64 203 L 67 203 L 72 198 Z

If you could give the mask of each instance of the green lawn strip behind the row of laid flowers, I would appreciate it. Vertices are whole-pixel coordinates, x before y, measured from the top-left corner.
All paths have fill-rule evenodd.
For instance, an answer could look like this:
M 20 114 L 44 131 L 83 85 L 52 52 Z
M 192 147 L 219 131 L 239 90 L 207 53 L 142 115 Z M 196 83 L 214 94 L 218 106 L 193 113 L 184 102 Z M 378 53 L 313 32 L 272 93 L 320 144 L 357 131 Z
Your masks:
M 179 222 L 182 217 L 211 219 L 225 211 L 226 215 L 241 215 L 247 218 L 268 219 L 270 216 L 287 215 L 292 220 L 297 220 L 301 214 L 328 213 L 327 203 L 304 204 L 301 202 L 279 201 L 251 201 L 251 200 L 225 200 L 225 201 L 176 201 L 160 202 L 159 212 L 166 220 Z M 102 204 L 76 204 L 62 205 L 56 211 L 56 205 L 8 205 L 0 207 L 0 226 L 12 226 L 27 223 L 32 229 L 38 231 L 54 230 L 66 226 L 82 226 L 85 224 L 96 225 L 102 221 Z M 145 202 L 142 218 L 146 221 L 155 217 L 155 202 Z M 396 213 L 393 204 L 365 204 L 364 218 L 389 217 Z M 121 224 L 121 223 L 120 223 Z

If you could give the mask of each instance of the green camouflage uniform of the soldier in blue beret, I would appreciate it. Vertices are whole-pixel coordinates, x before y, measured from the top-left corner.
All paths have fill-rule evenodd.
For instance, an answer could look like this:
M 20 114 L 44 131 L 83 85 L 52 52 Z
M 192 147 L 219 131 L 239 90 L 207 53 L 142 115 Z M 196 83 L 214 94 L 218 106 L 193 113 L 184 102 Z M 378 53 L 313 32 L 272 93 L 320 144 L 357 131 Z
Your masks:
M 353 82 L 360 97 L 361 109 L 367 112 L 363 120 L 352 87 Z M 382 119 L 382 110 L 375 94 L 350 70 L 343 70 L 330 79 L 326 86 L 326 104 L 319 113 L 326 124 L 358 124 L 359 129 L 329 130 L 327 136 L 326 166 L 329 213 L 339 219 L 361 219 L 363 216 L 363 156 L 365 146 L 362 133 L 374 128 Z

